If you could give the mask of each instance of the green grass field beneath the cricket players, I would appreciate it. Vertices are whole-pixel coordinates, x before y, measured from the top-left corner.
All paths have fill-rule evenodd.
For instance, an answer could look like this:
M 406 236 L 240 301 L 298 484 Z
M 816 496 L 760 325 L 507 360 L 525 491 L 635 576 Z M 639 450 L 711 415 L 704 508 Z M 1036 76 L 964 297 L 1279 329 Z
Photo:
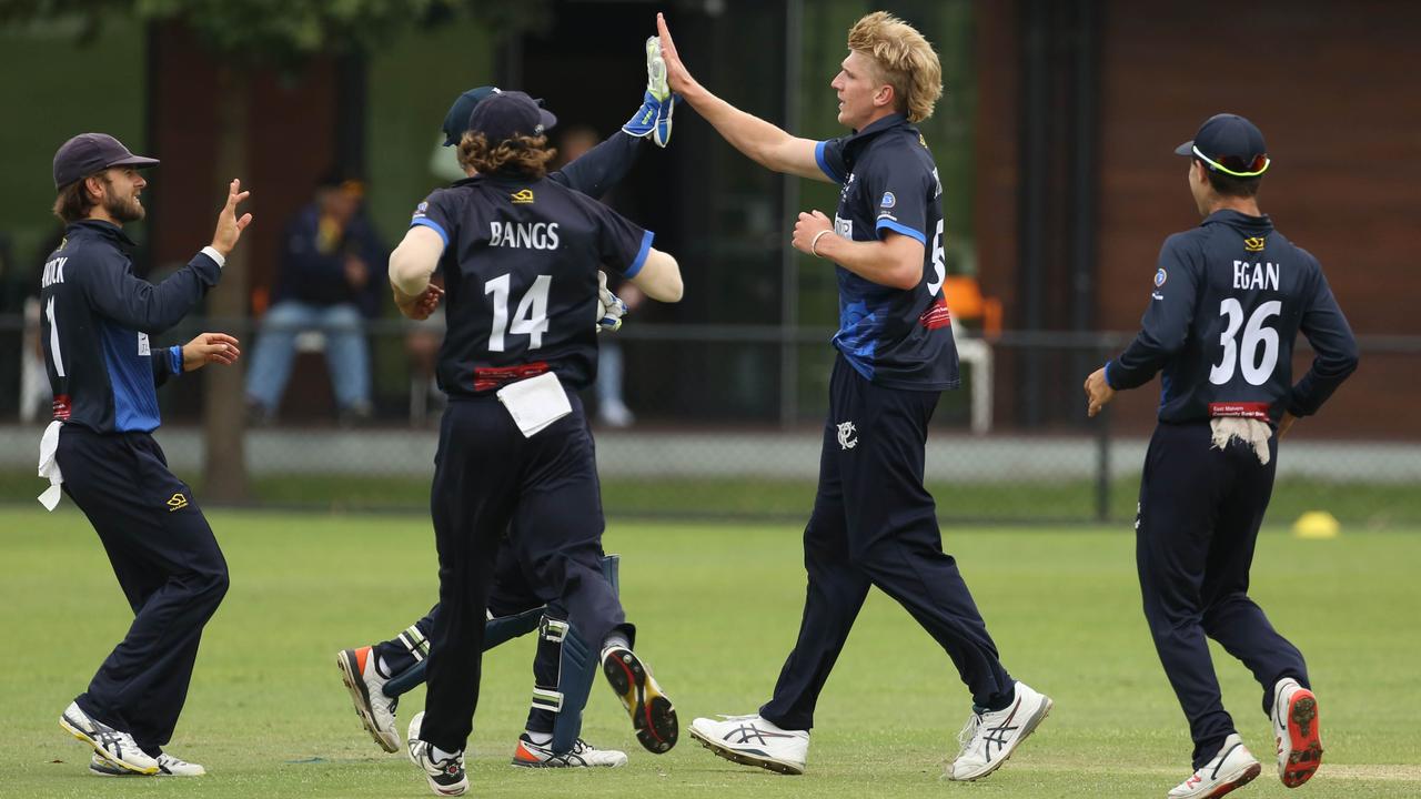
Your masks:
M 68 502 L 68 500 L 65 500 Z M 126 628 L 129 611 L 72 506 L 0 508 L 0 657 L 6 731 L 0 796 L 426 796 L 422 776 L 369 741 L 334 665 L 342 647 L 388 637 L 433 599 L 432 533 L 418 516 L 215 512 L 232 590 L 207 627 L 169 749 L 199 781 L 99 779 L 57 717 Z M 530 638 L 489 655 L 475 721 L 473 796 L 1164 796 L 1188 775 L 1189 742 L 1140 613 L 1133 537 L 1117 529 L 945 530 L 1015 675 L 1056 709 L 980 783 L 939 781 L 969 699 L 948 658 L 874 593 L 830 678 L 809 773 L 716 759 L 688 736 L 641 751 L 611 692 L 594 688 L 584 734 L 627 749 L 625 769 L 526 772 L 507 765 L 530 688 Z M 793 643 L 803 601 L 799 529 L 614 523 L 622 597 L 639 651 L 696 715 L 753 712 Z M 1268 532 L 1253 596 L 1309 657 L 1327 756 L 1302 790 L 1272 771 L 1259 688 L 1216 653 L 1225 701 L 1263 778 L 1235 796 L 1421 795 L 1421 532 L 1344 530 L 1326 542 Z M 401 722 L 422 707 L 406 698 Z M 402 724 L 401 724 L 402 726 Z

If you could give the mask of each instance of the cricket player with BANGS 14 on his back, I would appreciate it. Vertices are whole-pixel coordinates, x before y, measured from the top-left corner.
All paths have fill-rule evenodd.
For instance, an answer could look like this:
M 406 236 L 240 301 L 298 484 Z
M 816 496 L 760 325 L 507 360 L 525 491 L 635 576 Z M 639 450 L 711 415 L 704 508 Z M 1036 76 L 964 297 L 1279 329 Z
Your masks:
M 635 628 L 603 576 L 597 463 L 577 391 L 597 370 L 598 266 L 662 301 L 681 299 L 681 270 L 651 232 L 547 179 L 544 134 L 556 121 L 523 92 L 482 100 L 459 144 L 469 179 L 419 203 L 389 262 L 406 316 L 438 301 L 436 266 L 448 291 L 436 374 L 449 407 L 431 490 L 439 614 L 425 712 L 406 741 L 438 795 L 469 785 L 463 748 L 504 547 L 566 608 L 563 636 L 600 650 L 641 744 L 661 754 L 676 741 L 675 709 L 634 653 Z

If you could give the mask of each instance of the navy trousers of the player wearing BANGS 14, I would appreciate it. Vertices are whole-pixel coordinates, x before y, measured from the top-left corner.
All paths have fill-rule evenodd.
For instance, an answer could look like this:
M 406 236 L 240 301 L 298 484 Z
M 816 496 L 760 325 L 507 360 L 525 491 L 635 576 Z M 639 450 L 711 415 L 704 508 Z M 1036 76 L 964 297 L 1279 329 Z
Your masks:
M 439 613 L 429 636 L 423 741 L 462 751 L 479 702 L 483 624 L 500 546 L 567 608 L 591 647 L 614 628 L 621 601 L 603 577 L 603 506 L 581 400 L 524 438 L 495 397 L 452 400 L 439 428 L 431 512 L 439 552 Z M 512 523 L 512 535 L 504 532 Z

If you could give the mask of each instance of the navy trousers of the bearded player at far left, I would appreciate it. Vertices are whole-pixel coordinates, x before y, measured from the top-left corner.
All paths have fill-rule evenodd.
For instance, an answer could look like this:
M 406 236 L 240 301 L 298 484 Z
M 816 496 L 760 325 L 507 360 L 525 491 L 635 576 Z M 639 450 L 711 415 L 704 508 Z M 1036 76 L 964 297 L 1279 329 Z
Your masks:
M 65 425 L 57 459 L 134 608 L 128 634 L 75 701 L 156 755 L 188 698 L 202 628 L 227 593 L 227 563 L 151 435 Z

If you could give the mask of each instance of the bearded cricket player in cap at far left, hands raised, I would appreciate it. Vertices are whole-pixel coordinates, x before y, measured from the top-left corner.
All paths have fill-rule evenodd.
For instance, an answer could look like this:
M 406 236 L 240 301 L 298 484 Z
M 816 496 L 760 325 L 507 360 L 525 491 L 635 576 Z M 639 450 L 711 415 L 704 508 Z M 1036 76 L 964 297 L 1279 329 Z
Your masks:
M 107 134 L 81 134 L 54 154 L 54 213 L 64 240 L 44 264 L 44 365 L 54 421 L 40 445 L 50 510 L 70 495 L 94 525 L 134 624 L 104 660 L 60 725 L 94 748 L 101 776 L 200 776 L 163 751 L 178 725 L 202 628 L 227 593 L 227 563 L 188 483 L 168 471 L 153 441 L 155 387 L 209 363 L 232 364 L 237 340 L 203 333 L 180 347 L 153 347 L 222 279 L 222 266 L 252 215 L 232 181 L 212 245 L 156 286 L 134 274 L 134 240 L 158 161 Z

